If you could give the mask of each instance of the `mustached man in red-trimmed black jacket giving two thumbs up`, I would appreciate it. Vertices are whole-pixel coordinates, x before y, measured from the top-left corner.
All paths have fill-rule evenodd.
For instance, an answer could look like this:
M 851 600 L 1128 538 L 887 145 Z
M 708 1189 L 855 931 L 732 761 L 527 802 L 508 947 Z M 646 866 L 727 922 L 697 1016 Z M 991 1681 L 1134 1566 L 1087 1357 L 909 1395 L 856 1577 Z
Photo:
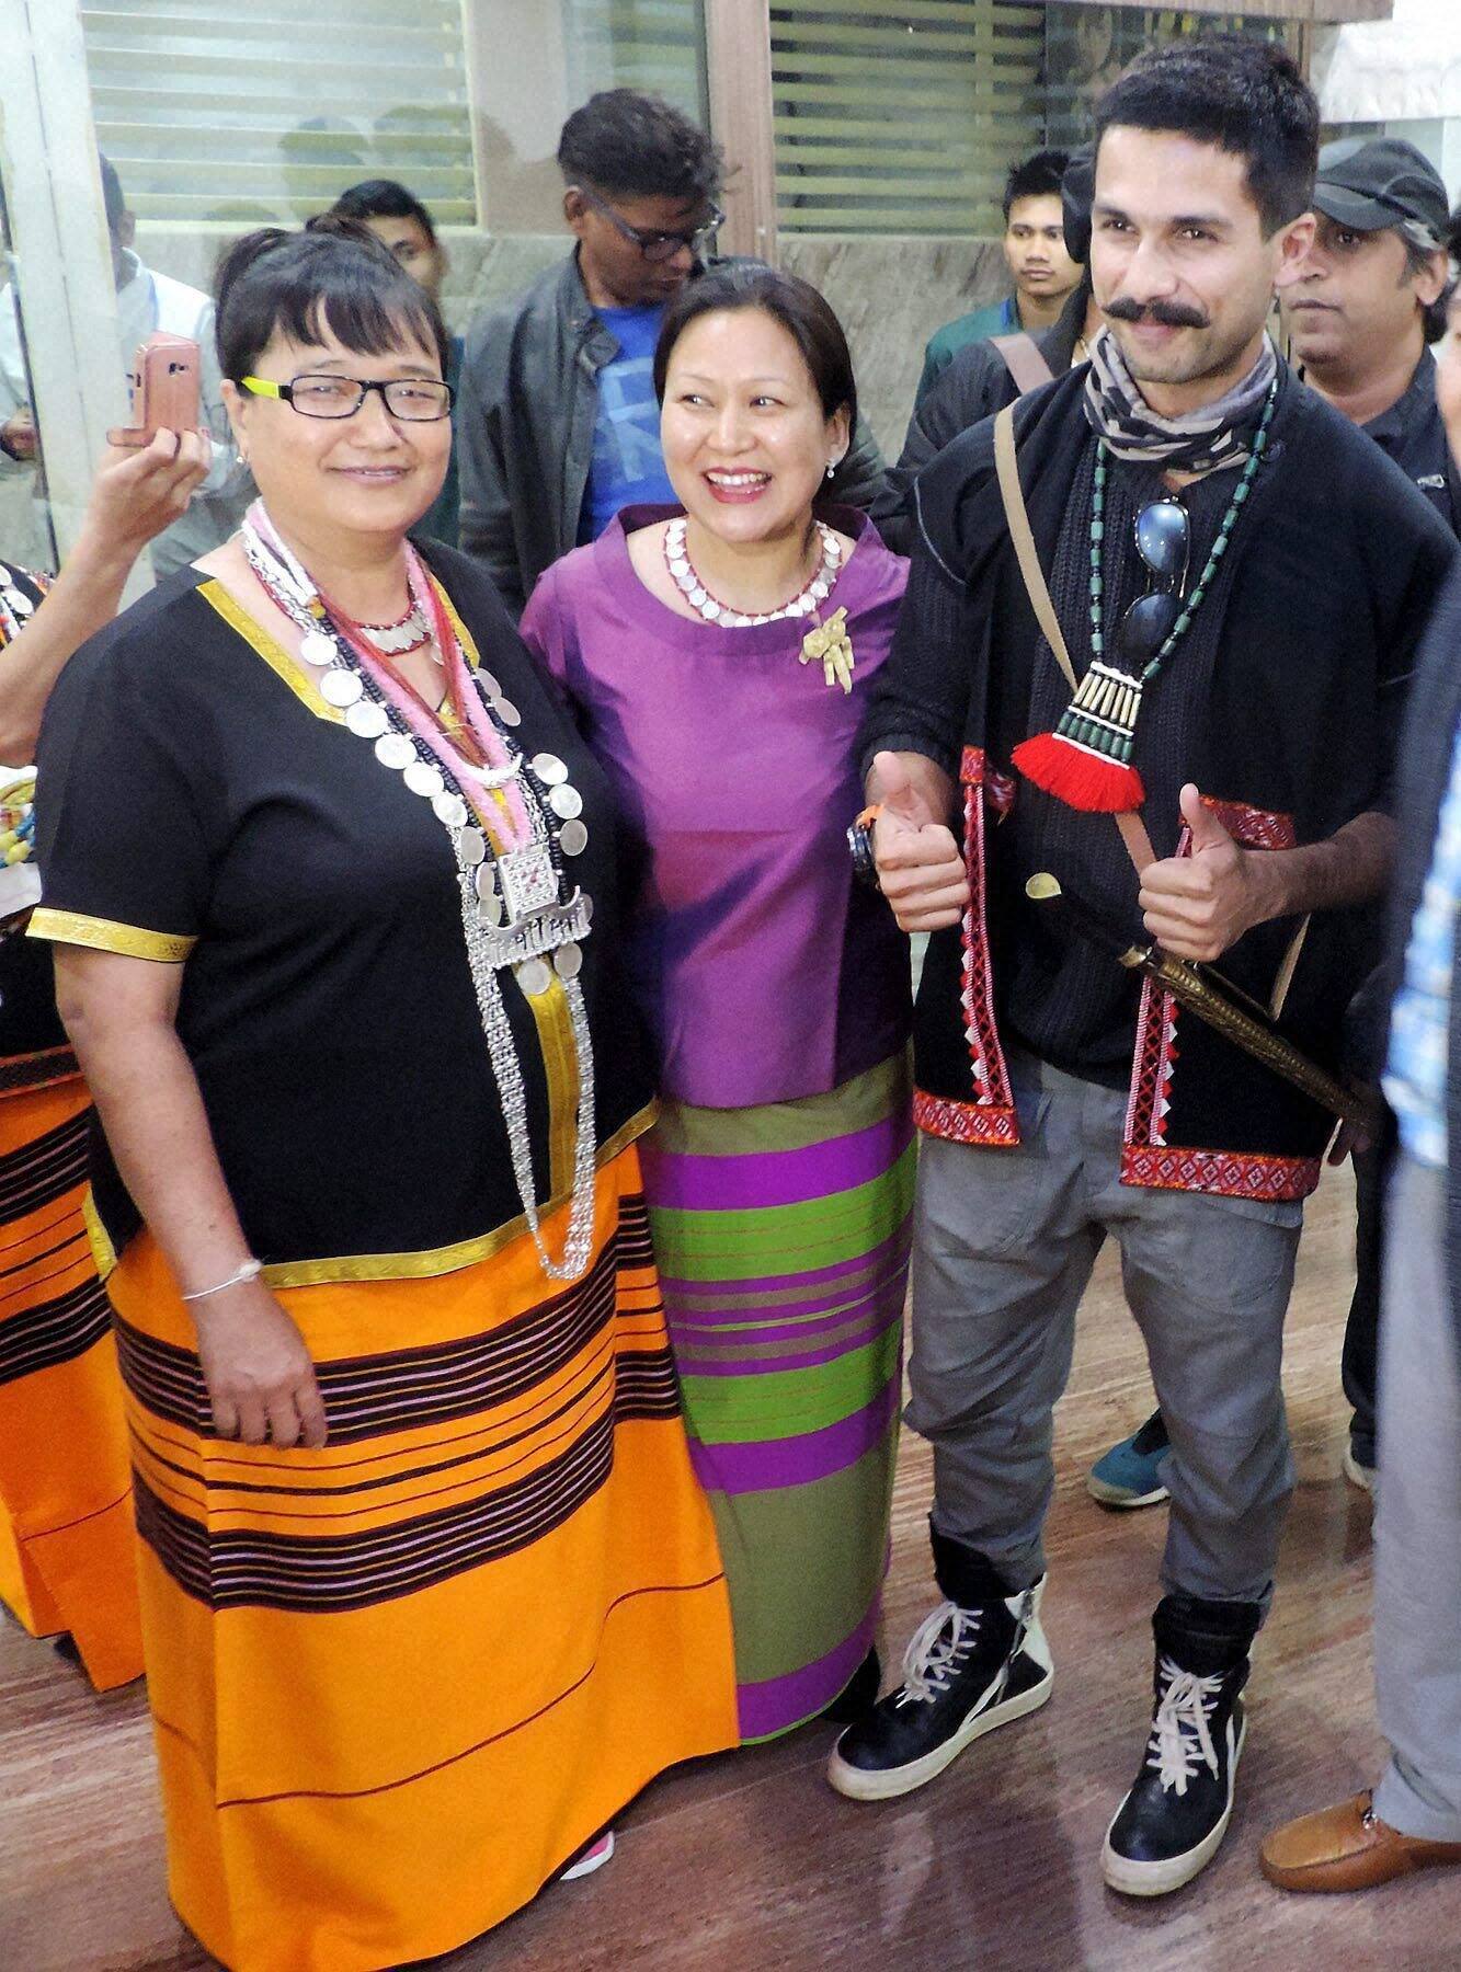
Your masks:
M 907 1416 L 935 1447 L 942 1601 L 828 1779 L 907 1793 L 1049 1698 L 1051 1412 L 1114 1236 L 1171 1432 L 1153 1710 L 1102 1846 L 1138 1897 L 1191 1881 L 1232 1814 L 1293 1487 L 1284 1313 L 1333 1118 L 1027 881 L 1053 872 L 1118 949 L 1220 960 L 1335 1065 L 1455 544 L 1268 341 L 1313 239 L 1317 132 L 1289 55 L 1236 35 L 1149 51 L 1102 99 L 1106 327 L 1013 406 L 1019 497 L 1000 418 L 919 477 L 864 730 L 860 826 L 899 925 L 933 933 Z

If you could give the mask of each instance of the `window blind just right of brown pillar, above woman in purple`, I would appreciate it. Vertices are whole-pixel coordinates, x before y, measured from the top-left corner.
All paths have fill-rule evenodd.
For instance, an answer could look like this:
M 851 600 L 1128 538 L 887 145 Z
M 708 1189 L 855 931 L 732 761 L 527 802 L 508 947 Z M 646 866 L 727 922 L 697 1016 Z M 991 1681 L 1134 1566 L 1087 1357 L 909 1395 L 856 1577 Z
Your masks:
M 1039 150 L 1045 8 L 1019 0 L 773 0 L 777 225 L 990 233 Z

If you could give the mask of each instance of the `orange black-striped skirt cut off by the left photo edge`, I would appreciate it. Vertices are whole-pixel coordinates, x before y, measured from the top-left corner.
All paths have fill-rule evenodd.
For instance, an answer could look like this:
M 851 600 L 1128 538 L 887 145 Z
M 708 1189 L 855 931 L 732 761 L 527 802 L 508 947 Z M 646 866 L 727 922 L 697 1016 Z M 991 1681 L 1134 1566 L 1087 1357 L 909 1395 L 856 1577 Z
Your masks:
M 57 1081 L 0 1094 L 0 1601 L 32 1637 L 71 1631 L 97 1690 L 142 1674 L 122 1388 L 87 1244 L 91 1100 Z

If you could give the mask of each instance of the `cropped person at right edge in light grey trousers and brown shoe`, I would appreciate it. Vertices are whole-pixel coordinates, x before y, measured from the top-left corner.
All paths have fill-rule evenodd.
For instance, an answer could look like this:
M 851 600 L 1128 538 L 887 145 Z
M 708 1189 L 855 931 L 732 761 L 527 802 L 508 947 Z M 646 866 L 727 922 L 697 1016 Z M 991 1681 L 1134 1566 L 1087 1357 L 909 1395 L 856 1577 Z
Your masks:
M 1461 239 L 1451 241 L 1453 250 Z M 1461 300 L 1437 355 L 1461 456 Z M 1380 1785 L 1276 1828 L 1264 1875 L 1291 1891 L 1374 1889 L 1461 1869 L 1461 578 L 1416 659 L 1396 787 L 1398 858 L 1378 998 L 1390 1175 L 1374 1526 L 1374 1690 L 1390 1743 Z M 1455 1905 L 1451 1905 L 1455 1909 Z M 1439 1911 L 1437 1911 L 1439 1915 Z M 1439 1937 L 1439 1933 L 1437 1933 Z M 1435 1964 L 1455 1960 L 1437 1942 Z

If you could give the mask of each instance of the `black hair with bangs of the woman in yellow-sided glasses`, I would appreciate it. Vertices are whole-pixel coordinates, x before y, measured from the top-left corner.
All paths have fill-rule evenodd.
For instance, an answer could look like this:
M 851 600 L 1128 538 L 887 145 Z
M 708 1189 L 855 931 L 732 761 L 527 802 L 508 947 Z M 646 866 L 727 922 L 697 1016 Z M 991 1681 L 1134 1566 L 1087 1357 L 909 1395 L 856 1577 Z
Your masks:
M 436 349 L 446 375 L 442 310 L 355 219 L 323 213 L 302 233 L 244 233 L 223 256 L 217 304 L 219 369 L 233 383 L 252 371 L 276 329 L 296 343 L 319 343 L 329 329 L 363 357 L 388 355 L 412 335 Z

